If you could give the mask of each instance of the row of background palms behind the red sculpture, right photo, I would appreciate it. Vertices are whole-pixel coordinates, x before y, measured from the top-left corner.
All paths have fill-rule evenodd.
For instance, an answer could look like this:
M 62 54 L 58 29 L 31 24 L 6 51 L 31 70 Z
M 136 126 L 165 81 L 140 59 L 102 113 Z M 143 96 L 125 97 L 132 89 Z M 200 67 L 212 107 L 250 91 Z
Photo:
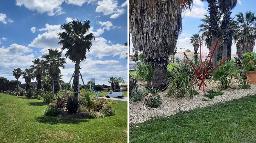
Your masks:
M 225 43 L 225 39 L 223 39 L 223 30 L 218 28 L 219 35 L 217 39 L 219 43 L 217 45 L 217 59 L 226 59 L 228 56 L 231 56 L 231 46 L 232 39 L 236 43 L 236 53 L 238 55 L 243 55 L 249 49 L 250 52 L 253 51 L 256 40 L 256 17 L 254 13 L 251 11 L 247 11 L 245 14 L 239 12 L 233 17 L 229 27 L 229 42 L 227 44 L 226 54 L 223 54 L 223 43 Z M 221 18 L 222 17 L 222 18 Z M 218 27 L 222 27 L 225 24 L 223 13 L 218 13 Z M 236 20 L 235 20 L 236 19 Z M 201 19 L 204 24 L 199 25 L 201 28 L 200 32 L 203 32 L 201 37 L 205 40 L 205 45 L 211 48 L 211 33 L 209 32 L 210 18 L 208 15 L 205 15 L 205 18 Z M 197 57 L 197 49 L 199 48 L 199 33 L 193 34 L 190 38 L 190 44 L 193 45 L 195 50 L 195 58 Z M 225 45 L 226 46 L 226 45 Z

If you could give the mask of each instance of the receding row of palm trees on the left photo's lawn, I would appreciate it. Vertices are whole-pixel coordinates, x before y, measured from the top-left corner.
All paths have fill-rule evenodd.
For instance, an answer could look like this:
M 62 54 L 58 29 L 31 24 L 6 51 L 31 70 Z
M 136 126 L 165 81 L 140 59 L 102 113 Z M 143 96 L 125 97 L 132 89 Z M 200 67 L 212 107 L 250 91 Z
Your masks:
M 66 50 L 65 57 L 69 58 L 72 62 L 75 63 L 75 72 L 73 79 L 73 91 L 78 92 L 78 80 L 79 80 L 79 70 L 80 70 L 80 62 L 86 60 L 86 54 L 90 51 L 92 47 L 92 41 L 94 41 L 94 36 L 92 33 L 88 33 L 90 28 L 90 21 L 85 20 L 84 24 L 79 20 L 72 20 L 67 24 L 61 25 L 61 29 L 64 32 L 58 33 L 58 38 L 61 50 Z M 16 68 L 13 71 L 13 76 L 18 79 L 21 75 L 23 75 L 23 79 L 25 79 L 26 90 L 29 88 L 30 82 L 32 79 L 36 78 L 38 83 L 43 79 L 44 85 L 46 85 L 46 90 L 50 89 L 49 84 L 54 80 L 57 81 L 60 79 L 60 68 L 65 68 L 66 58 L 61 57 L 62 52 L 57 49 L 48 49 L 49 53 L 41 56 L 43 58 L 40 60 L 39 58 L 32 61 L 34 65 L 31 65 L 29 69 L 25 69 L 24 72 L 20 68 Z M 43 78 L 42 78 L 43 76 Z M 48 86 L 47 86 L 48 85 Z M 59 91 L 59 83 L 54 82 L 53 91 Z M 37 89 L 41 88 L 41 84 L 37 84 Z M 74 94 L 75 96 L 78 93 Z

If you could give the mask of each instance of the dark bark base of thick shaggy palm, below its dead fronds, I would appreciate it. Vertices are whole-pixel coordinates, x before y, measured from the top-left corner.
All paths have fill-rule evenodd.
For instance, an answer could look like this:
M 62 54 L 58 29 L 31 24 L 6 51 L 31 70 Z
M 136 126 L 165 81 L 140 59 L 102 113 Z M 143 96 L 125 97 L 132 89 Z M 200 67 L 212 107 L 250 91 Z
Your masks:
M 154 66 L 154 64 L 152 64 L 152 67 L 154 69 L 154 76 L 152 78 L 152 85 L 153 88 L 160 88 L 160 89 L 166 89 L 167 87 L 167 78 L 166 78 L 166 72 L 167 72 L 167 66 L 163 66 L 161 67 L 160 65 L 158 65 L 156 63 L 156 65 Z M 147 82 L 146 88 L 151 87 L 151 82 Z

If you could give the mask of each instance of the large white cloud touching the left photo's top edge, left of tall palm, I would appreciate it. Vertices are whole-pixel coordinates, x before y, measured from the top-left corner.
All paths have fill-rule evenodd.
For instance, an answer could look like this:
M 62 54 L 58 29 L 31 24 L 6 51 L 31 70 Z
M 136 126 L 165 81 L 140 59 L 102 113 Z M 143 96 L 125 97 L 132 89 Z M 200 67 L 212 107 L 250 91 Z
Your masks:
M 60 7 L 63 2 L 64 0 L 16 0 L 16 5 L 24 5 L 29 10 L 36 10 L 39 13 L 47 12 L 49 16 L 54 16 L 65 13 Z

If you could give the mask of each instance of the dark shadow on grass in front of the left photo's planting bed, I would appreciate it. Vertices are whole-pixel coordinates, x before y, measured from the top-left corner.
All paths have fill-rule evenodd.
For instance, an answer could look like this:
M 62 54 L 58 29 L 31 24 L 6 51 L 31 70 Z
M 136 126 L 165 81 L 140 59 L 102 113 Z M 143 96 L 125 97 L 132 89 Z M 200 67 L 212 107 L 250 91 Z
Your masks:
M 88 122 L 89 119 L 69 119 L 69 118 L 58 118 L 58 117 L 51 117 L 51 116 L 41 116 L 37 117 L 36 119 L 40 123 L 46 124 L 78 124 L 80 122 Z

